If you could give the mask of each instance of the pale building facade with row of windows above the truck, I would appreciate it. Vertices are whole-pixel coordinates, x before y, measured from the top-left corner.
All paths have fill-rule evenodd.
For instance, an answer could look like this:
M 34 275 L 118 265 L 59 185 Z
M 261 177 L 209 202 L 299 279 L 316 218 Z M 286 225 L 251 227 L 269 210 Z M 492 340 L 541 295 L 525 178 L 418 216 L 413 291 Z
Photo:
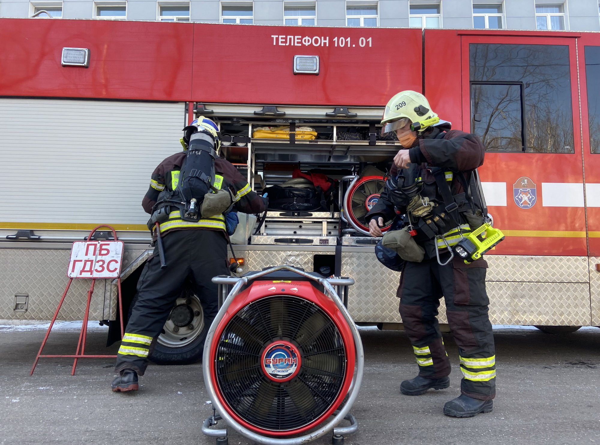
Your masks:
M 46 11 L 46 12 L 43 12 Z M 598 0 L 0 0 L 0 17 L 600 31 Z

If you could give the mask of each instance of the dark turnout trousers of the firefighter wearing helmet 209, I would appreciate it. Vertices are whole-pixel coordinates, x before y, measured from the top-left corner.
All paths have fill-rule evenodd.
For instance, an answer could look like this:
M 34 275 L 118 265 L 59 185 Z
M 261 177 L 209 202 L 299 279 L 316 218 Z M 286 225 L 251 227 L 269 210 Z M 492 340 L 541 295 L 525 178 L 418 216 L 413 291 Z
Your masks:
M 450 361 L 437 323 L 440 298 L 458 345 L 461 393 L 489 400 L 496 395 L 496 353 L 488 317 L 482 258 L 465 264 L 455 257 L 446 266 L 436 258 L 421 263 L 406 261 L 398 287 L 400 315 L 419 366 L 419 375 L 428 378 L 450 374 Z

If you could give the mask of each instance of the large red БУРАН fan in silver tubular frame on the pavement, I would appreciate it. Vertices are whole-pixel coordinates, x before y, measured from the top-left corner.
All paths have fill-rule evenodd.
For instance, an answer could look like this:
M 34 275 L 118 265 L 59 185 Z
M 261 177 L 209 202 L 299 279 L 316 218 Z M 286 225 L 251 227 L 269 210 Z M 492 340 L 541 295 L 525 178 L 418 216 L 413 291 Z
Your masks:
M 226 430 L 209 428 L 224 419 L 258 443 L 300 444 L 332 429 L 334 443 L 343 443 L 343 434 L 357 428 L 349 410 L 363 357 L 358 330 L 332 285 L 354 281 L 289 266 L 213 281 L 235 286 L 206 336 L 205 384 L 218 414 L 202 431 L 226 443 Z M 334 428 L 342 419 L 351 425 Z

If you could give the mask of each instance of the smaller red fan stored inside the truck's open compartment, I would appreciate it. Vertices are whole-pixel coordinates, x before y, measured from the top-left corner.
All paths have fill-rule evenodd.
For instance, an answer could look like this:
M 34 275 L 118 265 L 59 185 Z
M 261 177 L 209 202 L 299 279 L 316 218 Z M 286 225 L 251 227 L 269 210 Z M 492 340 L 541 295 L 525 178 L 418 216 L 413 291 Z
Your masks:
M 349 224 L 362 234 L 369 234 L 367 213 L 377 204 L 383 189 L 383 176 L 356 176 L 348 186 L 344 197 L 344 215 Z M 391 224 L 392 220 L 385 221 L 385 227 L 381 230 L 385 233 Z

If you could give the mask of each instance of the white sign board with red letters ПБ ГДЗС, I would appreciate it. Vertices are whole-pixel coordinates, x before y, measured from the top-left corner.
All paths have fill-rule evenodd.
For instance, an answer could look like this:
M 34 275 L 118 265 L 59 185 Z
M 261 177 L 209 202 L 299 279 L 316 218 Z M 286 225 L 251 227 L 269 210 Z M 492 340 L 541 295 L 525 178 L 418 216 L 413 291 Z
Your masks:
M 69 278 L 117 278 L 121 273 L 122 241 L 76 241 L 71 248 Z

